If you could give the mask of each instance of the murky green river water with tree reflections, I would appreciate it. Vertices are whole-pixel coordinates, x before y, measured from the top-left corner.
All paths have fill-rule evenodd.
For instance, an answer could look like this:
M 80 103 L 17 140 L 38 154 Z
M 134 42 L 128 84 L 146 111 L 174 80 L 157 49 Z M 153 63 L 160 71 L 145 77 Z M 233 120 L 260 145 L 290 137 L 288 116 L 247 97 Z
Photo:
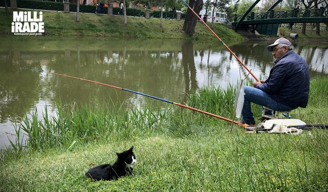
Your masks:
M 270 42 L 229 46 L 256 77 L 269 76 L 273 66 Z M 328 75 L 328 45 L 298 44 L 295 52 L 308 61 L 311 77 Z M 110 40 L 13 38 L 0 42 L 0 148 L 15 139 L 14 122 L 25 114 L 42 117 L 55 103 L 124 101 L 140 106 L 145 98 L 98 84 L 48 72 L 90 79 L 183 103 L 188 94 L 207 86 L 236 83 L 247 75 L 220 42 L 171 39 Z M 252 77 L 249 77 L 252 79 Z M 160 107 L 162 102 L 154 100 Z

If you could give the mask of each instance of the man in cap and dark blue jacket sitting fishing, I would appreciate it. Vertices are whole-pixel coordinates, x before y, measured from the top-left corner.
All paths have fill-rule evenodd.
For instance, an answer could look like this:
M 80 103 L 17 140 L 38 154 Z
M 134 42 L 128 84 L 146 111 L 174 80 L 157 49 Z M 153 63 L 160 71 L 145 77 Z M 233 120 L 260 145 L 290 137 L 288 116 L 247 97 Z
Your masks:
M 310 92 L 308 63 L 292 50 L 291 42 L 283 37 L 267 48 L 275 58 L 275 65 L 267 80 L 254 82 L 253 87 L 244 87 L 240 123 L 255 125 L 251 102 L 276 111 L 291 111 L 299 106 L 305 108 L 308 104 Z M 272 111 L 267 115 L 272 115 Z

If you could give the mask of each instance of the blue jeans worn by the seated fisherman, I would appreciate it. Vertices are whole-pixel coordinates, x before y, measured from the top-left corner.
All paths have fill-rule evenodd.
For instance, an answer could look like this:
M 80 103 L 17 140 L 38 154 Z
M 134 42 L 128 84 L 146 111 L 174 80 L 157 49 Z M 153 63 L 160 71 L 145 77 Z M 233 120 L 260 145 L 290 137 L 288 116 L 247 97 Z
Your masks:
M 244 105 L 242 107 L 241 116 L 242 120 L 247 123 L 255 123 L 253 112 L 251 108 L 251 102 L 261 105 L 267 106 L 270 109 L 276 111 L 291 111 L 292 108 L 290 106 L 284 105 L 269 96 L 269 94 L 265 93 L 262 90 L 257 88 L 244 86 Z

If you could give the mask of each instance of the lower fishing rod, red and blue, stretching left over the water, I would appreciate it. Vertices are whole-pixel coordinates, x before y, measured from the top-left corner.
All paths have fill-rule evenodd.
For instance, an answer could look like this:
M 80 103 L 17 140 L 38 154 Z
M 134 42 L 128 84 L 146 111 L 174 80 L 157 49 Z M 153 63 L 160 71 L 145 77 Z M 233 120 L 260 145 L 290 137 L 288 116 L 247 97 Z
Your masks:
M 224 117 L 221 117 L 221 116 L 218 116 L 218 115 L 214 115 L 214 114 L 209 113 L 209 112 L 206 112 L 206 111 L 201 111 L 201 110 L 192 108 L 191 106 L 187 106 L 187 105 L 184 105 L 184 104 L 176 103 L 176 102 L 169 101 L 169 100 L 166 100 L 166 99 L 161 99 L 161 98 L 154 97 L 154 96 L 151 96 L 151 95 L 147 95 L 147 94 L 144 94 L 144 93 L 140 93 L 140 92 L 137 92 L 137 91 L 132 91 L 132 90 L 128 90 L 128 89 L 125 89 L 125 88 L 116 87 L 116 86 L 111 86 L 110 84 L 105 84 L 105 83 L 101 83 L 101 82 L 97 82 L 97 81 L 93 81 L 93 80 L 89 80 L 89 79 L 84 79 L 84 78 L 79 78 L 79 77 L 73 77 L 73 76 L 59 74 L 59 73 L 53 73 L 53 72 L 48 72 L 48 73 L 53 74 L 53 75 L 59 75 L 59 76 L 73 78 L 73 79 L 78 79 L 78 80 L 84 80 L 84 81 L 88 81 L 88 82 L 93 82 L 93 83 L 96 83 L 96 84 L 101 84 L 102 86 L 107 86 L 107 87 L 111 87 L 111 88 L 115 88 L 115 89 L 119 89 L 119 90 L 123 90 L 123 91 L 128 91 L 128 92 L 131 92 L 131 93 L 136 93 L 136 94 L 143 95 L 143 96 L 146 96 L 146 97 L 150 97 L 150 98 L 153 98 L 153 99 L 157 99 L 157 100 L 160 100 L 160 101 L 164 101 L 164 102 L 168 102 L 168 103 L 175 104 L 175 105 L 178 105 L 178 106 L 182 106 L 182 108 L 187 108 L 187 109 L 190 109 L 190 110 L 193 110 L 193 111 L 197 111 L 199 113 L 210 115 L 212 117 L 216 117 L 216 118 L 219 118 L 219 119 L 222 119 L 222 120 L 225 120 L 225 121 L 229 121 L 229 122 L 235 123 L 235 124 L 240 125 L 240 126 L 243 126 L 244 125 L 242 123 L 239 123 L 237 121 L 233 121 L 233 120 L 228 119 L 228 118 L 224 118 Z

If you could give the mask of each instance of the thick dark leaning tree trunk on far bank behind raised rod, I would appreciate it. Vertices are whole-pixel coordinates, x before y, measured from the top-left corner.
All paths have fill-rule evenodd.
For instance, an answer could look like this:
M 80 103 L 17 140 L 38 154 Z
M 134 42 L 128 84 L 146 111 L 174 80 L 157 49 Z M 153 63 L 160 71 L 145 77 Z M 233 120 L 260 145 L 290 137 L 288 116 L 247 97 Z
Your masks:
M 190 0 L 189 6 L 196 12 L 196 14 L 199 14 L 202 6 L 203 1 L 202 0 Z M 197 16 L 194 15 L 194 13 L 188 9 L 186 13 L 185 23 L 183 23 L 182 30 L 185 31 L 187 35 L 193 35 L 195 32 L 195 28 L 197 25 Z

